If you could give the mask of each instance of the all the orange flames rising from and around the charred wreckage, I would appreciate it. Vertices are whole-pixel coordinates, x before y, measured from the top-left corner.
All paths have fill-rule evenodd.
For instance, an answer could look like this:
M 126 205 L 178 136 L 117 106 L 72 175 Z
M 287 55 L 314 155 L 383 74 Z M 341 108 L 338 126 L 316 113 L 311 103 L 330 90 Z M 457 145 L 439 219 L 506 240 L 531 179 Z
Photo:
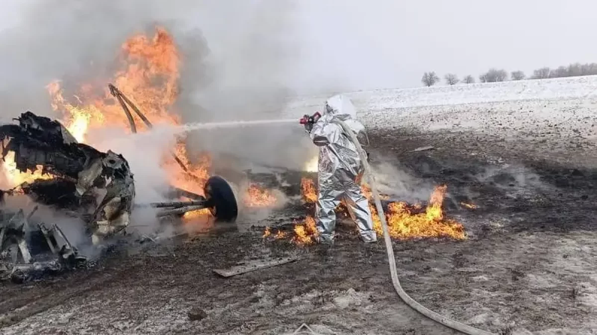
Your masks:
M 62 123 L 77 141 L 93 146 L 93 139 L 88 135 L 94 129 L 106 126 L 127 128 L 130 131 L 126 114 L 107 88 L 109 82 L 133 101 L 153 125 L 181 124 L 174 103 L 180 91 L 182 59 L 173 36 L 161 27 L 156 28 L 153 38 L 143 34 L 133 36 L 122 44 L 119 62 L 119 69 L 112 78 L 101 78 L 98 80 L 101 85 L 80 85 L 72 99 L 65 98 L 65 89 L 59 80 L 48 84 L 51 106 L 61 114 Z M 136 118 L 137 130 L 145 131 L 147 127 L 139 117 L 133 117 Z M 194 162 L 190 162 L 184 138 L 179 138 L 173 151 L 187 166 L 188 171 L 181 169 L 170 153 L 164 153 L 163 166 L 168 170 L 170 184 L 203 195 L 203 186 L 210 176 L 210 157 L 193 157 Z M 6 157 L 3 164 L 4 174 L 10 184 L 20 184 L 40 177 L 51 178 L 42 176 L 39 169 L 35 172 L 17 173 L 13 162 L 14 156 L 12 160 L 11 157 Z M 263 197 L 263 194 L 259 196 Z M 196 218 L 207 213 L 207 210 L 201 210 L 187 213 L 185 217 Z

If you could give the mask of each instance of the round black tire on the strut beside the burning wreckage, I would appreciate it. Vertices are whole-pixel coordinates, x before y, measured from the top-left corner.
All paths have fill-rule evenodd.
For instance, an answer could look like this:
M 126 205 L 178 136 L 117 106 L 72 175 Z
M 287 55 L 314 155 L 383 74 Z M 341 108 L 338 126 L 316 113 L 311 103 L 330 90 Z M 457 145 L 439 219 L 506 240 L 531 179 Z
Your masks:
M 235 222 L 238 216 L 238 204 L 232 187 L 220 176 L 207 179 L 204 187 L 205 198 L 210 204 L 211 214 L 216 222 Z

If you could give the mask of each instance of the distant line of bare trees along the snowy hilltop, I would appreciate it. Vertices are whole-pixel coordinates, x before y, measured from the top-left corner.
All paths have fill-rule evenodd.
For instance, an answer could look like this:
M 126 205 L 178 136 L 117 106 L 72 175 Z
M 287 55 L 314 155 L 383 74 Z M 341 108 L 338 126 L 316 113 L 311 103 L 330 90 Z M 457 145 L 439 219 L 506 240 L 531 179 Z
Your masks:
M 560 77 L 577 77 L 577 76 L 591 76 L 597 75 L 597 63 L 574 63 L 568 66 L 560 66 L 557 69 L 550 69 L 549 67 L 541 67 L 533 71 L 533 76 L 529 79 L 546 79 L 546 78 L 560 78 Z M 513 72 L 506 72 L 504 69 L 491 68 L 487 72 L 479 76 L 479 81 L 482 83 L 504 82 L 510 77 L 511 80 L 524 80 L 527 76 L 524 72 L 516 70 Z M 456 85 L 457 83 L 475 83 L 475 78 L 471 75 L 463 77 L 462 80 L 454 73 L 444 75 L 444 80 L 447 85 Z M 421 77 L 421 82 L 425 86 L 433 86 L 439 83 L 439 76 L 435 72 L 425 72 Z

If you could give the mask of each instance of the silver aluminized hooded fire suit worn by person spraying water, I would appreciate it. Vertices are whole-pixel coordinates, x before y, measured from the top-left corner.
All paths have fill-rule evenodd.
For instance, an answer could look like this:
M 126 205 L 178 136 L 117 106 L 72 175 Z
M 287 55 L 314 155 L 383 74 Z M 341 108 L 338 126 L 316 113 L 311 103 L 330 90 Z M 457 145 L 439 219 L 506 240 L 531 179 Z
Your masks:
M 355 134 L 365 131 L 356 120 L 352 102 L 342 95 L 329 98 L 319 120 L 307 126 L 313 143 L 319 147 L 318 200 L 316 202 L 317 229 L 320 243 L 332 243 L 336 228 L 336 207 L 344 200 L 350 216 L 356 221 L 361 239 L 377 241 L 367 198 L 357 182 L 363 166 L 355 145 L 335 119 L 346 123 Z M 310 128 L 310 129 L 309 129 Z

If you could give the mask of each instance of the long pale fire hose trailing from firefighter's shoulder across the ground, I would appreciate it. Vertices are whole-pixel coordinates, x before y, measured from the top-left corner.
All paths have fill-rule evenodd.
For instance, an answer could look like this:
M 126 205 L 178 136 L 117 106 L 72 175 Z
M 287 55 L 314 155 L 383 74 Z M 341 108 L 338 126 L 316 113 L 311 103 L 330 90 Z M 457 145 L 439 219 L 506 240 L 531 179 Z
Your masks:
M 363 163 L 363 166 L 365 168 L 365 174 L 369 179 L 369 186 L 371 187 L 371 193 L 373 193 L 373 199 L 376 204 L 377 213 L 379 213 L 381 228 L 383 228 L 383 238 L 386 244 L 387 260 L 390 264 L 390 275 L 392 277 L 392 284 L 394 285 L 394 289 L 396 290 L 396 293 L 398 293 L 398 296 L 400 296 L 400 298 L 404 300 L 404 302 L 408 306 L 410 306 L 417 312 L 423 314 L 425 317 L 430 318 L 435 322 L 445 325 L 448 328 L 452 328 L 454 330 L 460 331 L 461 333 L 469 335 L 494 335 L 492 333 L 489 333 L 488 331 L 471 327 L 470 325 L 466 325 L 455 320 L 450 320 L 449 318 L 444 317 L 441 314 L 437 314 L 436 312 L 433 312 L 429 308 L 426 308 L 425 306 L 416 302 L 404 291 L 404 289 L 402 289 L 400 281 L 398 280 L 398 271 L 396 271 L 396 259 L 394 257 L 394 249 L 392 248 L 392 240 L 390 239 L 390 234 L 387 229 L 386 216 L 384 215 L 383 207 L 381 207 L 381 200 L 379 194 L 377 193 L 377 185 L 374 180 L 375 178 L 373 177 L 373 173 L 371 173 L 371 167 L 369 165 L 369 162 L 367 162 L 367 154 L 365 153 L 365 150 L 363 150 L 363 148 L 361 147 L 361 143 L 356 138 L 355 133 L 352 131 L 352 129 L 349 128 L 348 125 L 346 125 L 346 123 L 339 119 L 334 119 L 334 122 L 340 125 L 344 129 L 344 132 L 349 135 L 350 141 L 353 142 L 353 144 L 355 144 L 356 149 L 359 152 L 359 156 L 361 157 L 361 162 Z

